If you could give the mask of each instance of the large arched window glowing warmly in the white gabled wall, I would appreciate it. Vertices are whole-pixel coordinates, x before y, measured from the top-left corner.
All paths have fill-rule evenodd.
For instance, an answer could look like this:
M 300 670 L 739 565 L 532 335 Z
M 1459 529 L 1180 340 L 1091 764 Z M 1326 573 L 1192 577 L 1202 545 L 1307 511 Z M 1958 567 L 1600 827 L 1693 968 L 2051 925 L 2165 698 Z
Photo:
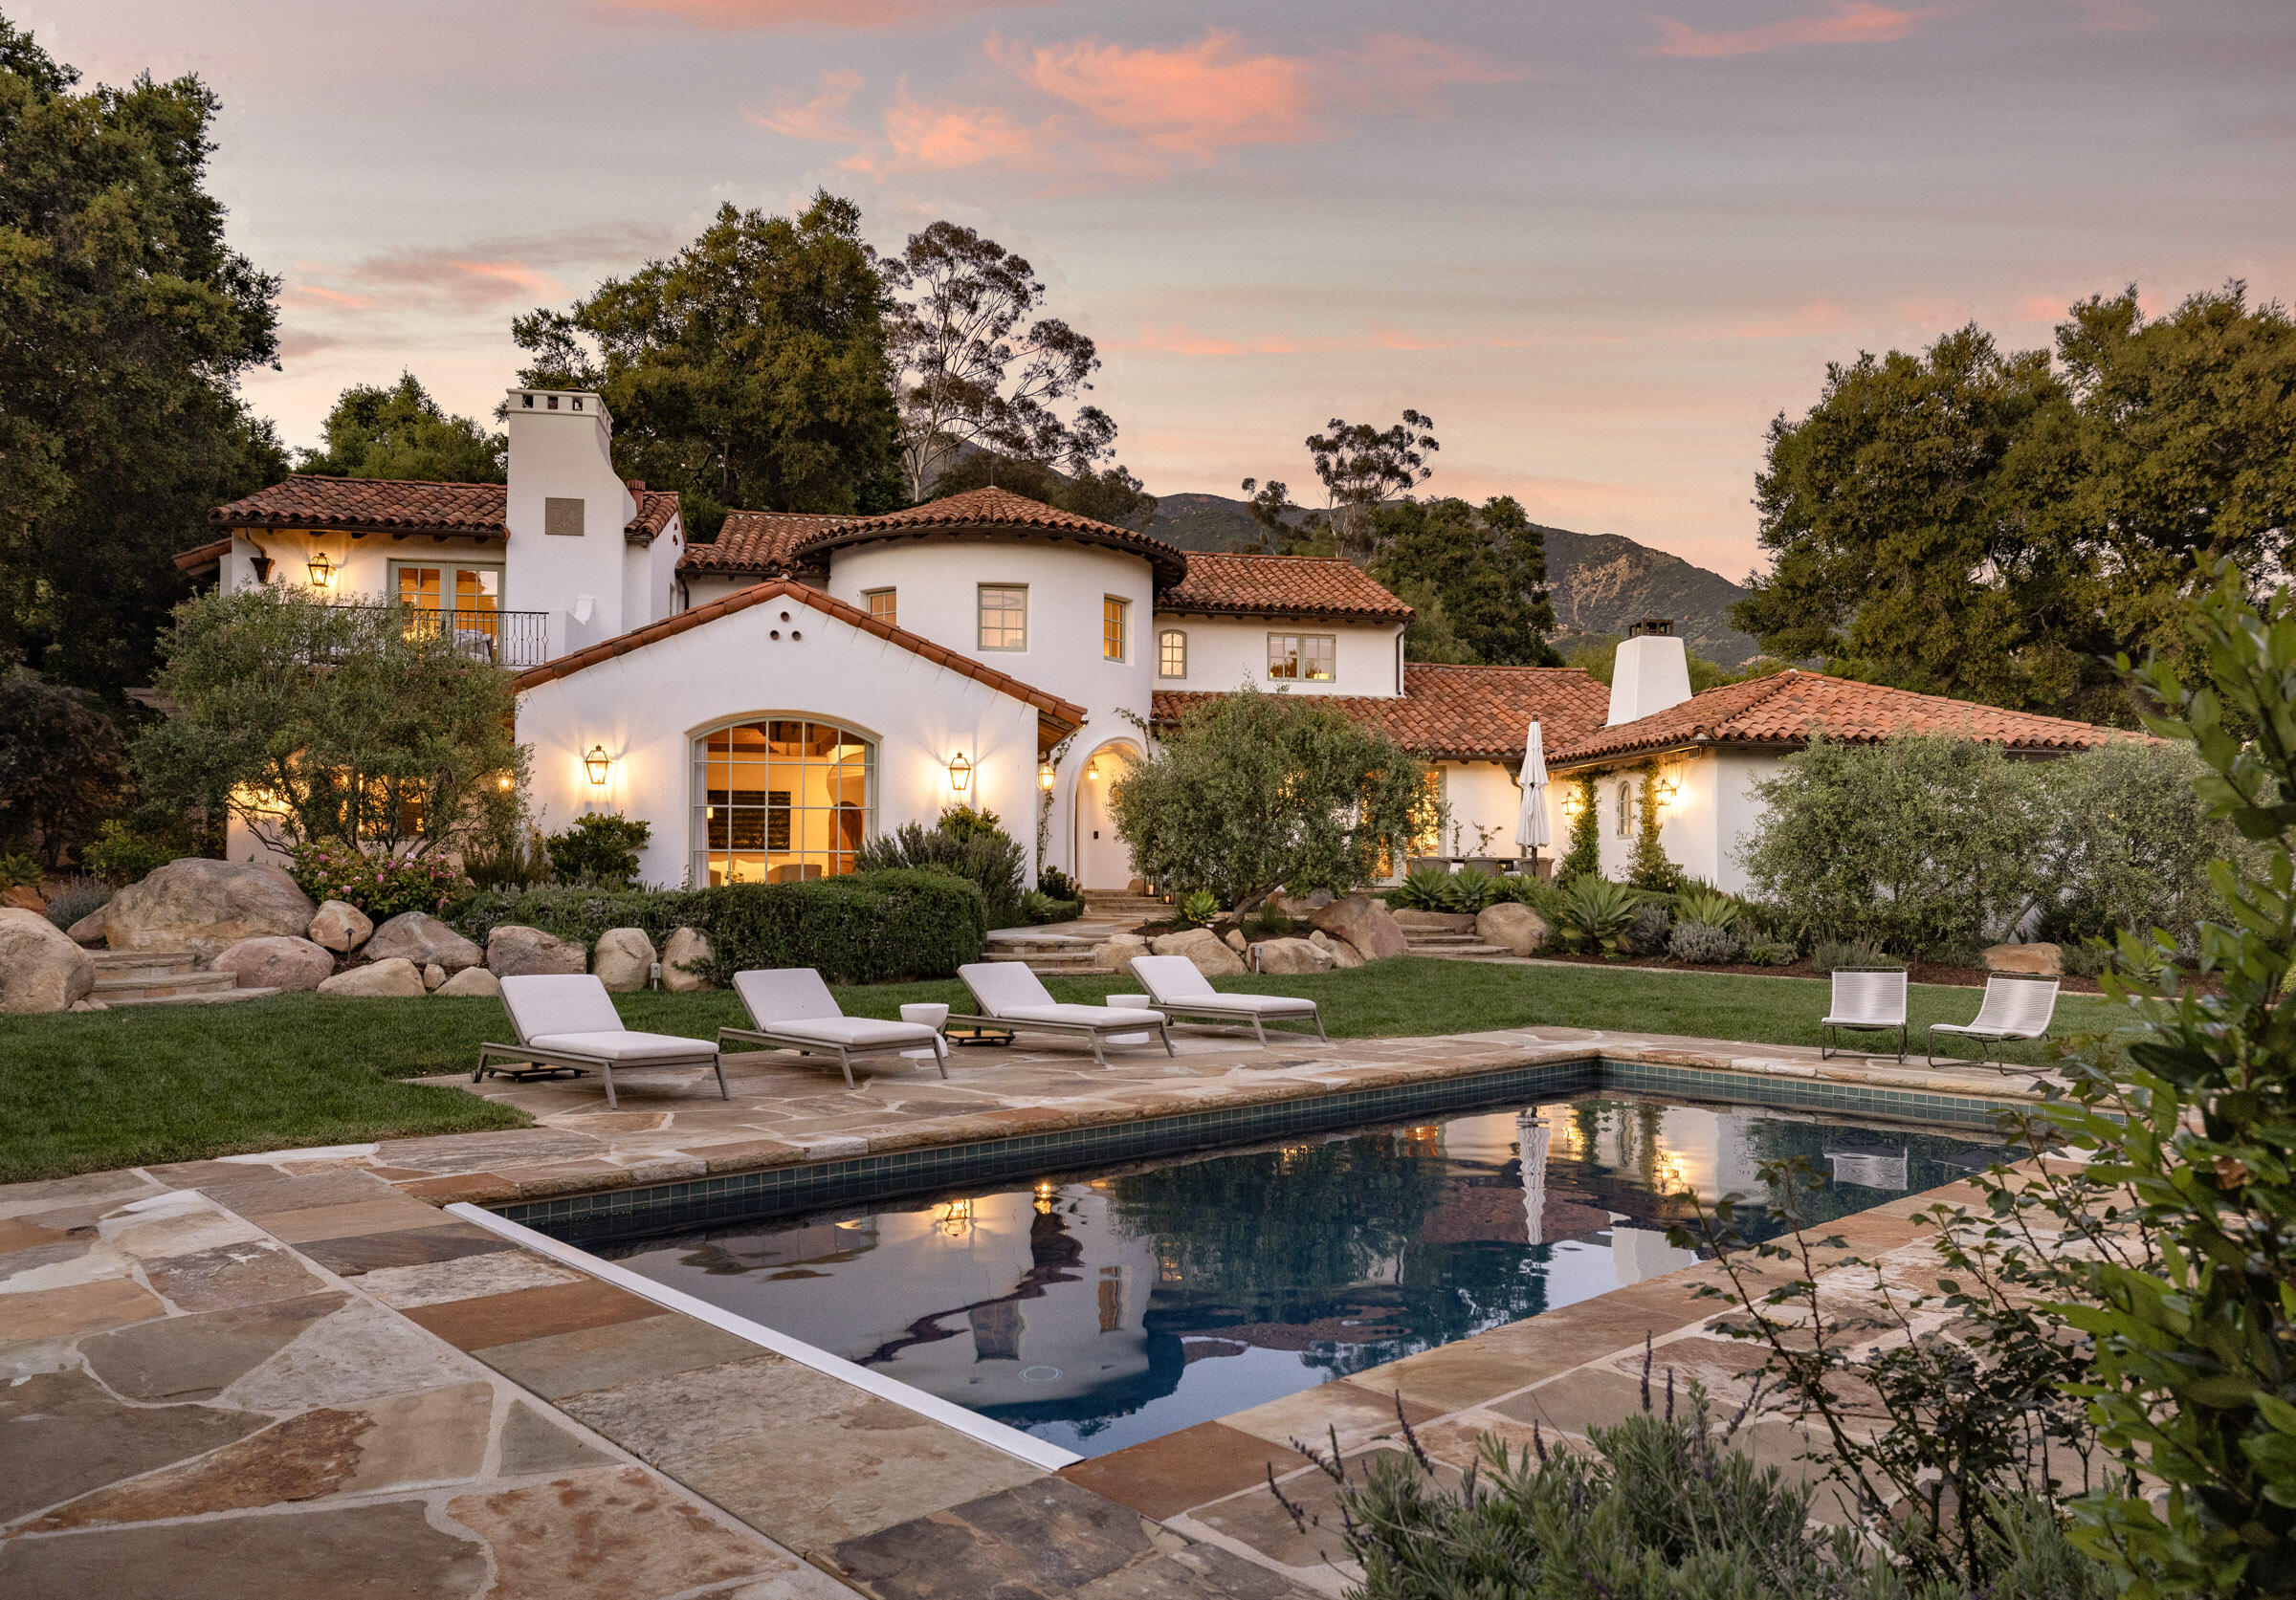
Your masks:
M 854 870 L 877 831 L 877 746 L 836 723 L 735 723 L 693 741 L 693 881 Z

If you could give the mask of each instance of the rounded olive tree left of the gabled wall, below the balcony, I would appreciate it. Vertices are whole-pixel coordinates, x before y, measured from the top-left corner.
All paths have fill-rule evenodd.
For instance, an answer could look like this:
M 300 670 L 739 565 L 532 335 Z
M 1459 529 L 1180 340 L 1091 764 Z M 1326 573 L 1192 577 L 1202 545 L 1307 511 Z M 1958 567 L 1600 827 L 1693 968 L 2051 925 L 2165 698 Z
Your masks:
M 227 806 L 289 845 L 418 856 L 519 808 L 512 675 L 452 629 L 259 588 L 184 601 L 163 652 L 168 716 L 135 741 L 156 799 Z

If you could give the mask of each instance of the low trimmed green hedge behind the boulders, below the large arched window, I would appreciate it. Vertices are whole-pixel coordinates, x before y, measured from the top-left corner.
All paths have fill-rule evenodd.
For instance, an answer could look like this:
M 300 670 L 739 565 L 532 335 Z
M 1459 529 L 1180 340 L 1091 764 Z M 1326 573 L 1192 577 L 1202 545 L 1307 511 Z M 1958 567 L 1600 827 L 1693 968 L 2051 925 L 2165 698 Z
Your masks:
M 480 943 L 517 923 L 585 948 L 608 927 L 641 927 L 654 948 L 693 927 L 709 939 L 705 976 L 721 985 L 751 966 L 813 966 L 829 982 L 951 978 L 980 960 L 990 927 L 978 886 L 928 870 L 723 888 L 484 891 L 450 907 L 445 921 Z

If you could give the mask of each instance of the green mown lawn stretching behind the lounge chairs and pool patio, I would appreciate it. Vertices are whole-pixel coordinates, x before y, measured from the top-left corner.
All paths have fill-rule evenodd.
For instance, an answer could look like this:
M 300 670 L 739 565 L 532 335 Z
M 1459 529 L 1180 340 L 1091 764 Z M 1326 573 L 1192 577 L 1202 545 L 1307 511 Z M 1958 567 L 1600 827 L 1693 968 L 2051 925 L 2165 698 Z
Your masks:
M 1127 978 L 1054 978 L 1063 1001 L 1134 989 Z M 1570 1026 L 1688 1033 L 1756 1044 L 1816 1044 L 1828 987 L 1812 978 L 1649 973 L 1600 966 L 1474 966 L 1396 960 L 1311 978 L 1231 978 L 1219 987 L 1304 994 L 1334 1038 Z M 859 1017 L 902 1001 L 969 1010 L 957 982 L 840 989 Z M 712 1035 L 739 1024 L 732 994 L 625 994 L 634 1028 Z M 1926 1022 L 1968 1022 L 1972 989 L 1915 985 Z M 2057 1005 L 2060 1033 L 2105 1031 L 2094 996 Z M 482 1040 L 505 1040 L 496 1001 L 333 1001 L 282 994 L 236 1005 L 156 1005 L 11 1017 L 0 1024 L 0 1182 L 248 1150 L 409 1134 L 523 1127 L 526 1116 L 452 1088 L 402 1079 L 464 1072 Z M 2041 1061 L 2046 1047 L 2014 1047 Z M 960 1058 L 962 1061 L 962 1058 Z

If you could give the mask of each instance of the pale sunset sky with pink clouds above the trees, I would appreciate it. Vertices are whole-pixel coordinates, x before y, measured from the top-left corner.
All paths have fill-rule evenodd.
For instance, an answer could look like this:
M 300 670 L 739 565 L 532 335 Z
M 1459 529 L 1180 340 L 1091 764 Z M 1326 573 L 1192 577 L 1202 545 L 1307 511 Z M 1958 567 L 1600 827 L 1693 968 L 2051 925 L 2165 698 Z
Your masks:
M 1153 491 L 1428 411 L 1433 491 L 1729 576 L 1828 360 L 2073 298 L 2296 298 L 2287 0 L 0 0 L 85 80 L 200 73 L 285 278 L 289 443 L 413 370 L 484 413 L 510 317 L 719 202 L 955 218 L 1100 340 Z

